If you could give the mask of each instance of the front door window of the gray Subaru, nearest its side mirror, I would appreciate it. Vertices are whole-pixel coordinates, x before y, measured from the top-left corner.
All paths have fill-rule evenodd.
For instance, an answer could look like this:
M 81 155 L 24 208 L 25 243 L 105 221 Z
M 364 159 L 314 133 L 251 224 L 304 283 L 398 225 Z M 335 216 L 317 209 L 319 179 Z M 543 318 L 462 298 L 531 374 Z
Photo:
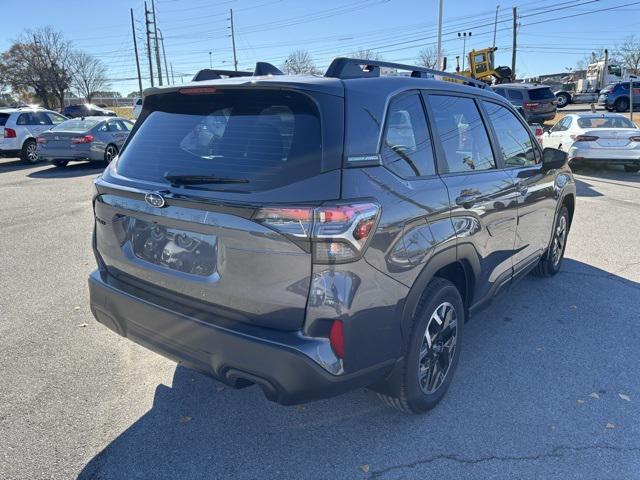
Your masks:
M 536 163 L 534 140 L 528 129 L 511 111 L 495 103 L 482 102 L 500 145 L 507 167 L 524 167 Z

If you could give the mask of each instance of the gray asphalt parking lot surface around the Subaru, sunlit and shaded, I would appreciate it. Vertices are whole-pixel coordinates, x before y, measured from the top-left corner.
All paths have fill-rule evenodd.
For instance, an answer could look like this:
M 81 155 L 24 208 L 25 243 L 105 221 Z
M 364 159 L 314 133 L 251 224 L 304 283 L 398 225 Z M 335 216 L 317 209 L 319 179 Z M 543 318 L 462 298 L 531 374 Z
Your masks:
M 0 478 L 640 478 L 640 174 L 578 179 L 567 258 L 466 328 L 407 416 L 358 390 L 282 407 L 97 324 L 91 180 L 0 159 Z

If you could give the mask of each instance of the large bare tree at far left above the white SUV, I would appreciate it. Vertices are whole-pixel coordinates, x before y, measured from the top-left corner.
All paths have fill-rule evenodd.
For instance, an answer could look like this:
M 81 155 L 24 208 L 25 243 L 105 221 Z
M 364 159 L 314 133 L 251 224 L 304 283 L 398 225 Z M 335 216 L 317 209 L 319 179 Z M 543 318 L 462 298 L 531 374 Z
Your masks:
M 64 105 L 71 85 L 71 44 L 51 27 L 28 30 L 3 53 L 0 75 L 16 92 L 31 93 L 51 108 Z

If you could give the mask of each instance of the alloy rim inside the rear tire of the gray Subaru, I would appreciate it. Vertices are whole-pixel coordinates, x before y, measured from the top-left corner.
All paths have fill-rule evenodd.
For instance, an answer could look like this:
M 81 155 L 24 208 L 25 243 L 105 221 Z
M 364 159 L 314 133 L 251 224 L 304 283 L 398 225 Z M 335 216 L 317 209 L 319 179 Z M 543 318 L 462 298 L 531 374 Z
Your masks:
M 427 322 L 418 356 L 418 381 L 424 393 L 434 393 L 444 382 L 451 369 L 457 339 L 456 309 L 449 302 L 441 303 Z

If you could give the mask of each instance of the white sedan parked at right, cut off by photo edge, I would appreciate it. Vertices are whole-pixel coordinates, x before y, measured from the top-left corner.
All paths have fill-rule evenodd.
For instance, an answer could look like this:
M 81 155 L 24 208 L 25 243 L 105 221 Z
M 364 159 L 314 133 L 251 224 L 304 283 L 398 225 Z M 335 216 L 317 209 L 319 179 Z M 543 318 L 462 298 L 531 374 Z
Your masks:
M 567 152 L 573 168 L 591 164 L 640 170 L 640 129 L 618 113 L 567 115 L 543 135 L 542 145 Z

